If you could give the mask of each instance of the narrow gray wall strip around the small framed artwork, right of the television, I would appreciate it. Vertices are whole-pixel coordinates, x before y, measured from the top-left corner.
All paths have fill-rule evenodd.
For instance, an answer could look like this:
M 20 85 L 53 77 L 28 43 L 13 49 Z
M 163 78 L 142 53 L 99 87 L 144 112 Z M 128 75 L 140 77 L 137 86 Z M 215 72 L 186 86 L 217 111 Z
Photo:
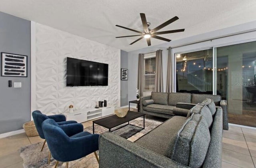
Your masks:
M 128 69 L 128 52 L 121 50 L 121 68 Z M 128 71 L 128 80 L 131 73 Z M 120 83 L 121 95 L 120 95 L 120 106 L 128 105 L 128 81 L 122 81 Z

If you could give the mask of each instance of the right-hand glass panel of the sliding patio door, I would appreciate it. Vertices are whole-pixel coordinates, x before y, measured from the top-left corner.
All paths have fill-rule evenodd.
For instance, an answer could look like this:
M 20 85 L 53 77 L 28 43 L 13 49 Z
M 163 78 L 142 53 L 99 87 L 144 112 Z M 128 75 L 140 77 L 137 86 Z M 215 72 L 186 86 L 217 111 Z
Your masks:
M 216 48 L 216 94 L 228 102 L 229 123 L 256 127 L 256 42 Z

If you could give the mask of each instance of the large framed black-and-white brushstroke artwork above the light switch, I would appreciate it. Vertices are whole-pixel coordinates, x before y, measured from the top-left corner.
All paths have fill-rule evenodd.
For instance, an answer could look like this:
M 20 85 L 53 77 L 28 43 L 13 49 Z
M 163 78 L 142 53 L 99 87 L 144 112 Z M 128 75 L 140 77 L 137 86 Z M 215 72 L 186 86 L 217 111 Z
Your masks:
M 1 76 L 27 77 L 26 55 L 2 53 Z

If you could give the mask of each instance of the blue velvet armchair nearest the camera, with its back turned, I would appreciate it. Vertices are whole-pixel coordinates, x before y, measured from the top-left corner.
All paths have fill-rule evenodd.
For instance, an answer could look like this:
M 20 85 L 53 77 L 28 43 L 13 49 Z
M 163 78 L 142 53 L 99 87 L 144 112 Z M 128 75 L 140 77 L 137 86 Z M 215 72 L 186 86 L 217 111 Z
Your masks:
M 79 132 L 73 136 L 68 136 L 66 132 L 53 119 L 46 119 L 42 124 L 42 129 L 46 142 L 52 153 L 52 157 L 58 162 L 68 162 L 77 160 L 94 152 L 97 161 L 96 151 L 99 149 L 99 134 L 90 134 L 89 132 Z

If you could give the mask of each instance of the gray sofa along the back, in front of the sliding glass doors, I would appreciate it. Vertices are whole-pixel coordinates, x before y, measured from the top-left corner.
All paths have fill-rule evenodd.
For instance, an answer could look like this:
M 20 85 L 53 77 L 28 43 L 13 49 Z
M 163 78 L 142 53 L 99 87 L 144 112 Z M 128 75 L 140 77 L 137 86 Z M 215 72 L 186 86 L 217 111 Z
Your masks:
M 220 95 L 152 92 L 150 96 L 141 97 L 140 113 L 167 119 L 173 115 L 182 115 L 181 113 L 186 116 L 189 109 L 206 98 L 212 99 L 216 107 L 222 108 L 223 129 L 228 130 L 228 105 Z M 176 108 L 180 108 L 180 110 L 177 111 Z M 182 109 L 188 110 L 182 111 Z

